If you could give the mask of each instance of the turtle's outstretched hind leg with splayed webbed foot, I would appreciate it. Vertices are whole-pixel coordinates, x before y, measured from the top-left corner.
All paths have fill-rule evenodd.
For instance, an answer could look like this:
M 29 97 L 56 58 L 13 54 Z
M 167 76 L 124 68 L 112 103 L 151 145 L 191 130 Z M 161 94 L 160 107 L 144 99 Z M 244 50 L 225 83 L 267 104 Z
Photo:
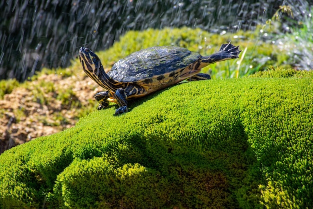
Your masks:
M 217 53 L 214 53 L 207 57 L 202 57 L 201 62 L 203 63 L 215 63 L 223 60 L 230 60 L 230 59 L 236 59 L 239 58 L 239 46 L 233 46 L 230 44 L 222 44 L 219 48 L 219 51 Z

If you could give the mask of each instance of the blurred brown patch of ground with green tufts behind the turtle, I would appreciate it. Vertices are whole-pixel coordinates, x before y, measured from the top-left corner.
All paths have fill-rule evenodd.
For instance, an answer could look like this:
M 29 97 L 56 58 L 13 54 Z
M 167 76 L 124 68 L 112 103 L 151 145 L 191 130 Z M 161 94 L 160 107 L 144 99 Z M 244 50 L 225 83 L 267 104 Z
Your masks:
M 74 126 L 79 117 L 95 110 L 93 95 L 101 90 L 83 73 L 65 78 L 42 74 L 13 89 L 0 100 L 0 153 Z

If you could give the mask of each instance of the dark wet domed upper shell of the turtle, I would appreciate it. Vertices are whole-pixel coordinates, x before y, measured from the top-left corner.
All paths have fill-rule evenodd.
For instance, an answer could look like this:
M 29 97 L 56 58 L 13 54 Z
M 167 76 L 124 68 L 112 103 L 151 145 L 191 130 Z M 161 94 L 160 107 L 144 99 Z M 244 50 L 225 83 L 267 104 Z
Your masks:
M 107 75 L 121 83 L 148 83 L 153 78 L 158 80 L 162 75 L 184 69 L 200 57 L 198 53 L 181 47 L 151 47 L 119 60 Z

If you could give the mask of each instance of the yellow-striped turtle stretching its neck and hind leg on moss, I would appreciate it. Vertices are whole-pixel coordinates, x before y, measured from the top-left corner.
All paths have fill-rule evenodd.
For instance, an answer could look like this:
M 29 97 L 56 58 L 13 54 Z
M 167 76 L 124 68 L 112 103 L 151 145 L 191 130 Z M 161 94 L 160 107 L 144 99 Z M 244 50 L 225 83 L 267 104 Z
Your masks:
M 156 46 L 134 52 L 117 61 L 105 73 L 98 56 L 89 48 L 78 52 L 83 71 L 106 91 L 94 95 L 98 110 L 109 102 L 118 104 L 114 115 L 128 112 L 127 100 L 142 97 L 183 80 L 208 80 L 210 75 L 200 73 L 201 68 L 223 60 L 238 58 L 239 46 L 222 44 L 219 51 L 201 56 L 182 47 Z

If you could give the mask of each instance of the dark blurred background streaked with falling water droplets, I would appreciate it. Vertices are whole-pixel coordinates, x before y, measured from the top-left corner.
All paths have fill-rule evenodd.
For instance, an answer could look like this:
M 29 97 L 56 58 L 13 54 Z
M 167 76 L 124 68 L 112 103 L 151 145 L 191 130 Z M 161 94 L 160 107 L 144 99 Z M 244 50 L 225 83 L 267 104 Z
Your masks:
M 310 1 L 1 1 L 0 80 L 24 81 L 42 67 L 66 67 L 80 46 L 107 49 L 129 30 L 253 30 L 282 4 L 292 7 L 296 22 Z

